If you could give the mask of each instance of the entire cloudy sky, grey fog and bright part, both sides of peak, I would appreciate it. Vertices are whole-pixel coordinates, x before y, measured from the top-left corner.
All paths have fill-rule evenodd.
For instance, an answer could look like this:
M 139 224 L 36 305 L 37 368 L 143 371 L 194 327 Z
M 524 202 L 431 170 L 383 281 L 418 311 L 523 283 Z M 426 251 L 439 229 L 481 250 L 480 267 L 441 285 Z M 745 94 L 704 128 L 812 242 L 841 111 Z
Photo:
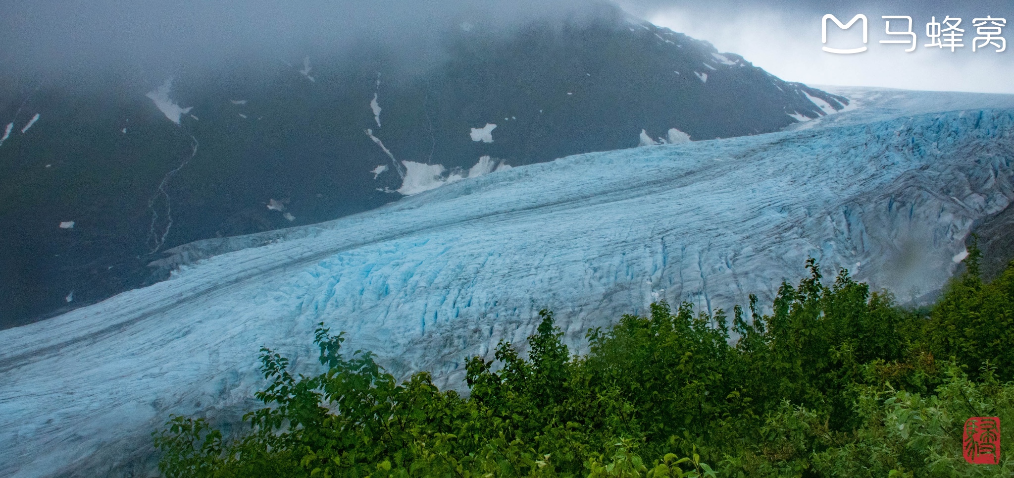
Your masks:
M 793 81 L 1014 93 L 1014 46 L 971 51 L 975 17 L 1014 21 L 1014 2 L 883 0 L 617 0 L 627 11 L 661 26 L 707 40 L 723 52 Z M 124 59 L 198 61 L 209 65 L 255 51 L 298 53 L 313 47 L 386 42 L 407 56 L 433 50 L 436 26 L 474 19 L 508 28 L 525 19 L 582 8 L 589 0 L 0 0 L 0 74 L 75 71 Z M 821 51 L 825 13 L 848 21 L 869 18 L 868 51 Z M 914 19 L 918 48 L 881 45 L 881 15 Z M 926 48 L 931 16 L 962 18 L 964 48 Z M 907 26 L 892 20 L 892 29 Z M 1012 25 L 1014 27 L 1014 25 Z M 829 42 L 859 42 L 830 25 Z M 852 36 L 852 37 L 850 37 Z M 1003 37 L 1009 37 L 1004 31 Z M 1014 37 L 1012 37 L 1014 39 Z M 415 51 L 413 51 L 415 49 Z

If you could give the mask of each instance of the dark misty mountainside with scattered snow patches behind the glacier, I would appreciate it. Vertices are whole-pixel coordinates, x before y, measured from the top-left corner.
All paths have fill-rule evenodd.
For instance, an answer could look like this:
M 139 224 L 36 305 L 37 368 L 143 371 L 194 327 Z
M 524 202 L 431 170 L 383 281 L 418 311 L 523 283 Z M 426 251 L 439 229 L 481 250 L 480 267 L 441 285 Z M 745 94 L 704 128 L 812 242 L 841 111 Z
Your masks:
M 370 210 L 464 178 L 482 156 L 517 166 L 635 147 L 641 131 L 769 133 L 848 104 L 612 10 L 508 36 L 457 28 L 444 46 L 421 71 L 364 46 L 171 78 L 0 77 L 12 125 L 0 328 L 164 279 L 146 265 L 174 246 Z M 406 174 L 423 177 L 407 188 Z

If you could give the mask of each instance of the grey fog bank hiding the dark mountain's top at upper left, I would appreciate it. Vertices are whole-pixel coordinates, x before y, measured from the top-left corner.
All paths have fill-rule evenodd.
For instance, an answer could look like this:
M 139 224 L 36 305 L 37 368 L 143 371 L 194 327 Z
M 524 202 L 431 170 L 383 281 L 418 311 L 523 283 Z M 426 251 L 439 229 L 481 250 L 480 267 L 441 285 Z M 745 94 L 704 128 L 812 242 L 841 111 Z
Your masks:
M 0 7 L 3 75 L 80 74 L 163 65 L 228 67 L 248 55 L 380 47 L 439 58 L 448 29 L 509 32 L 535 18 L 600 7 L 563 0 L 59 0 Z

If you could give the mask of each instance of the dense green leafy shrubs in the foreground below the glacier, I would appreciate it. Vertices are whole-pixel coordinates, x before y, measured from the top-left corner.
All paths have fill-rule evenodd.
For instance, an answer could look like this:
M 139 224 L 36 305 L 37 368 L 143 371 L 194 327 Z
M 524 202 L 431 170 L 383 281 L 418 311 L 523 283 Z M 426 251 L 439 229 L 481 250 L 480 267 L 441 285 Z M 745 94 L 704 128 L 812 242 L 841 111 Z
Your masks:
M 166 477 L 1014 476 L 1014 263 L 967 272 L 933 308 L 897 306 L 842 271 L 783 284 L 771 315 L 656 303 L 570 354 L 541 313 L 523 356 L 467 362 L 463 397 L 426 372 L 399 384 L 370 353 L 294 377 L 262 349 L 266 407 L 224 438 L 202 418 L 154 433 Z M 736 337 L 730 341 L 730 337 Z M 962 426 L 999 416 L 999 465 L 962 458 Z

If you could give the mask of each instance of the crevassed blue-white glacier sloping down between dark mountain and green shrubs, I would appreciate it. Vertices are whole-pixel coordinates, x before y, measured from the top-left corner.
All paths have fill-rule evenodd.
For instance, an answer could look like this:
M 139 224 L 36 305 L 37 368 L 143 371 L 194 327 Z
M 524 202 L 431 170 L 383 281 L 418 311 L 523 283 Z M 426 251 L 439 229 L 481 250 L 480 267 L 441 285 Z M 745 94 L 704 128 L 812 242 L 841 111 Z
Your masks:
M 460 388 L 466 356 L 523 341 L 540 309 L 581 351 L 589 327 L 658 298 L 764 303 L 807 257 L 918 300 L 1014 200 L 1014 96 L 825 88 L 856 106 L 169 250 L 168 280 L 0 331 L 0 476 L 150 473 L 168 414 L 227 422 L 250 405 L 261 346 L 315 370 L 320 322 L 395 375 Z

